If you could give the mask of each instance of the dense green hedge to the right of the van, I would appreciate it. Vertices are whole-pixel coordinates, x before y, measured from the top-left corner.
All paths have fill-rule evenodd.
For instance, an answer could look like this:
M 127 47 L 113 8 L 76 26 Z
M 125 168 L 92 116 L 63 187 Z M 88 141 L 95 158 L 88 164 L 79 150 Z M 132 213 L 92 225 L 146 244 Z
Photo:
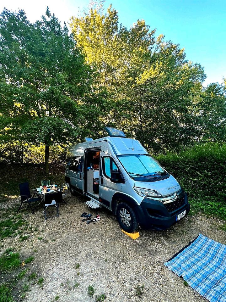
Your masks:
M 198 144 L 155 158 L 189 193 L 191 210 L 226 220 L 226 144 Z

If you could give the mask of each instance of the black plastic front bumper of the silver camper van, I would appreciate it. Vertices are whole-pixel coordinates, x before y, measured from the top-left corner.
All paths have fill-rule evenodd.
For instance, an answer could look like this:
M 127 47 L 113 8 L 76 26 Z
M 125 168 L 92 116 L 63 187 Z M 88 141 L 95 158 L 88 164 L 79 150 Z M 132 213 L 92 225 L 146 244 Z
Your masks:
M 186 215 L 189 213 L 190 204 L 187 194 L 184 192 L 183 200 L 177 200 L 175 204 L 164 205 L 160 201 L 145 197 L 135 210 L 139 226 L 142 229 L 165 230 L 177 222 L 177 215 L 185 210 Z

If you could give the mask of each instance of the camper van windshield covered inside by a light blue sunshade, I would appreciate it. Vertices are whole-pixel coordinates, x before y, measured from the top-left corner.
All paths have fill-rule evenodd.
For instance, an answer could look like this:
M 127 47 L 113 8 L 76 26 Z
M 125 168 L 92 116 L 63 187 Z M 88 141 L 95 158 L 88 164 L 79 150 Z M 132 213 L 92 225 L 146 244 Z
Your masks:
M 152 177 L 166 173 L 150 155 L 119 155 L 118 159 L 132 177 L 141 175 Z

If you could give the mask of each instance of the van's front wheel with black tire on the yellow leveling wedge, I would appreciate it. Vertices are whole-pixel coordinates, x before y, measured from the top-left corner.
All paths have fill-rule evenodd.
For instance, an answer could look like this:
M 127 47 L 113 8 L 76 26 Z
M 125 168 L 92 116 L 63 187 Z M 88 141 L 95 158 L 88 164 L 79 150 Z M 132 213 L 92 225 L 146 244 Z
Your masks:
M 126 211 L 123 211 L 123 209 L 126 210 Z M 122 218 L 121 215 L 123 215 L 123 214 L 125 215 L 124 217 L 126 217 L 127 215 L 130 216 L 130 217 L 128 217 L 128 218 L 130 218 L 130 222 L 127 219 L 124 220 Z M 124 231 L 126 231 L 128 233 L 132 233 L 132 232 L 137 231 L 139 226 L 138 226 L 138 222 L 137 222 L 137 218 L 136 218 L 136 215 L 134 213 L 134 210 L 128 204 L 126 204 L 125 202 L 121 202 L 121 203 L 118 204 L 117 210 L 116 210 L 116 217 L 117 217 L 117 220 L 118 220 L 121 228 Z M 127 225 L 127 223 L 130 223 L 130 224 Z

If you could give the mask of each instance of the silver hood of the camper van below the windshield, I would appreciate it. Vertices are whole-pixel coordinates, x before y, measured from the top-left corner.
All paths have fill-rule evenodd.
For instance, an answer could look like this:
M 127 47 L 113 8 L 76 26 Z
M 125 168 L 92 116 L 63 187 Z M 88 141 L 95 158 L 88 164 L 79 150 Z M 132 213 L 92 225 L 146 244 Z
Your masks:
M 151 189 L 159 192 L 163 197 L 172 195 L 180 190 L 179 183 L 170 175 L 169 178 L 156 182 L 136 182 L 135 187 Z

